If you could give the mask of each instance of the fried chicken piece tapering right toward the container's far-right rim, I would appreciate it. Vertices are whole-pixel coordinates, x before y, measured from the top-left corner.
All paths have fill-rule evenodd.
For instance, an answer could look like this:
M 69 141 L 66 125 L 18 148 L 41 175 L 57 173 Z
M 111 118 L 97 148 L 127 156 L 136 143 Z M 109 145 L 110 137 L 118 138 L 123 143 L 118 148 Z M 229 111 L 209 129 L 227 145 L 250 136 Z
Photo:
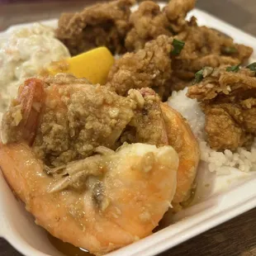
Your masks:
M 251 47 L 235 44 L 230 37 L 209 27 L 197 26 L 193 19 L 191 22 L 191 26 L 177 36 L 186 44 L 181 54 L 173 59 L 174 77 L 191 81 L 194 74 L 205 66 L 216 68 L 241 64 L 252 54 Z

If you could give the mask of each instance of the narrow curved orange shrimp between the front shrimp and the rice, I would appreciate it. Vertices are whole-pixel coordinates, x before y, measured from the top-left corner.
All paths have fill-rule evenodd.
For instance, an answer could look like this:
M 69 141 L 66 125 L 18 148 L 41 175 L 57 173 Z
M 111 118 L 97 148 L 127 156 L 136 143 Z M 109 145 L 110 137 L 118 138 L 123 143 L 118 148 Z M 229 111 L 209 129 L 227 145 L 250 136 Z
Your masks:
M 169 107 L 161 105 L 168 135 L 168 143 L 178 152 L 179 166 L 177 190 L 173 197 L 173 206 L 186 201 L 191 196 L 191 189 L 197 174 L 200 150 L 190 126 L 183 116 Z

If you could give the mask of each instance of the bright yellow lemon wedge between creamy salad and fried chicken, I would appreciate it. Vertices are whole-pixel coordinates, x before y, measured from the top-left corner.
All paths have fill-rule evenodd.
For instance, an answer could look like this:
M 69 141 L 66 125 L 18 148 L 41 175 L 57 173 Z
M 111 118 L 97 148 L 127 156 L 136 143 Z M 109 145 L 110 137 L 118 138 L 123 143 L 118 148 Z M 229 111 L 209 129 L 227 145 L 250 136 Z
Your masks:
M 91 83 L 105 84 L 114 57 L 106 47 L 98 47 L 81 55 L 54 62 L 48 73 L 72 73 L 77 78 L 87 78 Z

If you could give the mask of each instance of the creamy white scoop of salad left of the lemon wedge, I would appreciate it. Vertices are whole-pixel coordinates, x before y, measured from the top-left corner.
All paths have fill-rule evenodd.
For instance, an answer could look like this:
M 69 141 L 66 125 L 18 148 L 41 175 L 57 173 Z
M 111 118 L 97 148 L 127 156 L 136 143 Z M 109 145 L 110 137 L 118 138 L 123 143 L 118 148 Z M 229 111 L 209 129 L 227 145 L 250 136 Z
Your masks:
M 69 50 L 50 26 L 39 23 L 12 31 L 0 41 L 0 111 L 5 111 L 26 78 L 38 75 L 51 61 L 68 58 Z

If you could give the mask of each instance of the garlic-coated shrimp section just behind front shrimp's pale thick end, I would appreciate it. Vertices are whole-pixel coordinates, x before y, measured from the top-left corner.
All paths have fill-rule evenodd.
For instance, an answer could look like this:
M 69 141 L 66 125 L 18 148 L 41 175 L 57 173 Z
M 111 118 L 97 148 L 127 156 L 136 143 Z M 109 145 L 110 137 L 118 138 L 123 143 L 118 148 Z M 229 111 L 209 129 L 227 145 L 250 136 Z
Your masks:
M 168 145 L 159 96 L 150 88 L 131 89 L 129 96 L 133 99 L 140 98 L 141 104 L 136 108 L 135 116 L 121 140 L 157 146 Z

